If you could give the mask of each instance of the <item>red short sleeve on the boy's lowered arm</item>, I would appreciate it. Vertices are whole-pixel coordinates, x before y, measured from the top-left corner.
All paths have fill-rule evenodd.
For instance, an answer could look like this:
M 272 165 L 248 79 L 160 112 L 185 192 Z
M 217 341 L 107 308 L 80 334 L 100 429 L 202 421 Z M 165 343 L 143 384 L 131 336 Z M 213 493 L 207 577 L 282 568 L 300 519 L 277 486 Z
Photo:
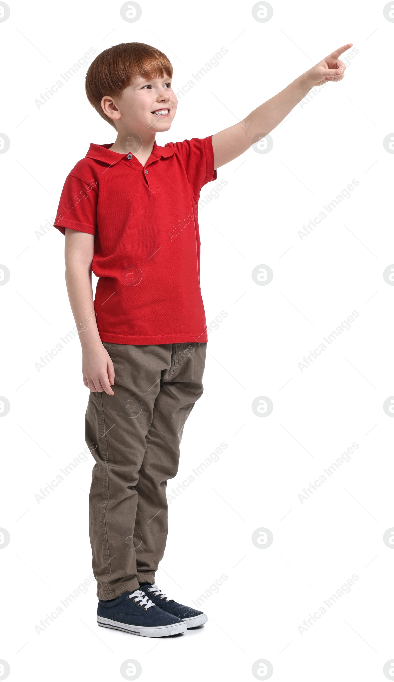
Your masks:
M 65 234 L 69 227 L 78 232 L 95 235 L 97 228 L 97 182 L 85 182 L 74 175 L 67 175 L 53 224 Z

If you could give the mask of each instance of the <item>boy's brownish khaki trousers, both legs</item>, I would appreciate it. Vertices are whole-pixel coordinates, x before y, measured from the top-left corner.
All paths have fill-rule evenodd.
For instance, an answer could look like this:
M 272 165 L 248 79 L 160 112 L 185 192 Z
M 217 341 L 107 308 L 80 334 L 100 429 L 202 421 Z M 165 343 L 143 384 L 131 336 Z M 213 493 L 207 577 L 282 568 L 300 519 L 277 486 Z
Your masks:
M 206 343 L 104 342 L 115 396 L 91 392 L 85 439 L 95 459 L 89 534 L 97 596 L 155 582 L 168 533 L 166 486 L 177 475 L 183 426 L 202 395 Z

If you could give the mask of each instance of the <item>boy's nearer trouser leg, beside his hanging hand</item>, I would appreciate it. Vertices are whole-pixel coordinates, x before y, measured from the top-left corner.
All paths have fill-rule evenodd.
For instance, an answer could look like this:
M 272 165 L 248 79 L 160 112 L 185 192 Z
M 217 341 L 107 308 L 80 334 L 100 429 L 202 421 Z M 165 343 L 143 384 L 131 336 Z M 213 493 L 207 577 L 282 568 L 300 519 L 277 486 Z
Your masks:
M 170 370 L 172 344 L 104 342 L 104 346 L 115 368 L 115 396 L 105 392 L 89 395 L 85 439 L 95 458 L 89 534 L 97 597 L 115 599 L 139 587 L 133 544 L 136 485 L 160 379 Z

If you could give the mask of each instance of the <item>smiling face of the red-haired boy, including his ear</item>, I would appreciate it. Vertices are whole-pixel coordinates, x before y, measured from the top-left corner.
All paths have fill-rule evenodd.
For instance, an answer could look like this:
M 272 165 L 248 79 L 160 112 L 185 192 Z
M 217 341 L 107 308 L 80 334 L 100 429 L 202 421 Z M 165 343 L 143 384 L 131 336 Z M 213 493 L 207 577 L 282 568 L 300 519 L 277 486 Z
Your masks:
M 171 79 L 138 77 L 119 98 L 104 97 L 102 106 L 117 126 L 118 134 L 133 132 L 145 138 L 149 133 L 169 130 L 177 110 Z

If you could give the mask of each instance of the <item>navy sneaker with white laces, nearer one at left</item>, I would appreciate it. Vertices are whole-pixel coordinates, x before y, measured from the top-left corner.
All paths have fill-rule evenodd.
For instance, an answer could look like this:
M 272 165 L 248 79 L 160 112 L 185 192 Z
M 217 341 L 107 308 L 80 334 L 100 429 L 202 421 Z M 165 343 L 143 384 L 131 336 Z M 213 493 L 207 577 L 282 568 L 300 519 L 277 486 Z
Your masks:
M 155 606 L 142 590 L 123 592 L 109 601 L 99 599 L 97 623 L 142 637 L 168 637 L 187 629 L 182 619 Z

